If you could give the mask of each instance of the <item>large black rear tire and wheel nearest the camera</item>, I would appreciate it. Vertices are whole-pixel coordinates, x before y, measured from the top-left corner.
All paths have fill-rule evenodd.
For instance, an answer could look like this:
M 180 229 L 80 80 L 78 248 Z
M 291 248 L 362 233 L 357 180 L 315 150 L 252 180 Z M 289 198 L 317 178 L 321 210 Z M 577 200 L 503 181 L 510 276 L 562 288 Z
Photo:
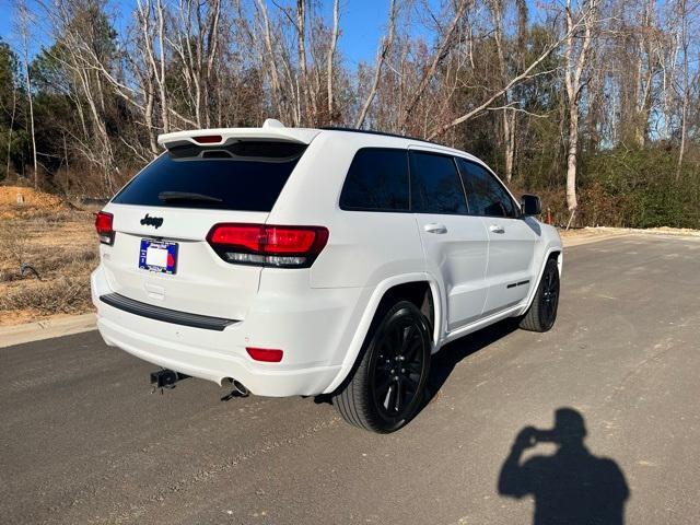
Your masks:
M 428 381 L 431 337 L 425 316 L 400 301 L 373 323 L 361 361 L 332 404 L 364 430 L 394 432 L 418 412 Z

